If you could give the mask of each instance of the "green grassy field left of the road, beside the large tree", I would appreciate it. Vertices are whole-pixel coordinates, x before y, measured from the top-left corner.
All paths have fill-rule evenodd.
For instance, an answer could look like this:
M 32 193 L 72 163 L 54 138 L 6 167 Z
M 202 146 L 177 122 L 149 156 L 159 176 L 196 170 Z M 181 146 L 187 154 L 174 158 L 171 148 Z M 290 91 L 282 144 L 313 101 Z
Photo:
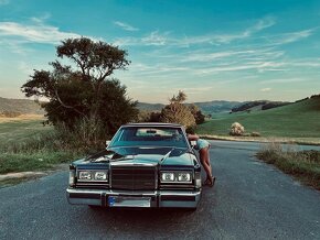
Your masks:
M 64 144 L 55 130 L 43 127 L 41 120 L 0 123 L 0 174 L 51 170 L 83 154 Z

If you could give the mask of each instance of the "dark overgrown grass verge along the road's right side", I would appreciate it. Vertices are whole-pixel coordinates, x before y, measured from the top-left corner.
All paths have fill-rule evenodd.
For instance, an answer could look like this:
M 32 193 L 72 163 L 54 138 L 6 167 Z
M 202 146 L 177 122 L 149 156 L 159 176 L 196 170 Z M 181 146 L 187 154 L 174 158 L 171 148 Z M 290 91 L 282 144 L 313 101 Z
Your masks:
M 297 151 L 294 146 L 284 149 L 280 143 L 269 143 L 257 157 L 320 190 L 320 151 Z

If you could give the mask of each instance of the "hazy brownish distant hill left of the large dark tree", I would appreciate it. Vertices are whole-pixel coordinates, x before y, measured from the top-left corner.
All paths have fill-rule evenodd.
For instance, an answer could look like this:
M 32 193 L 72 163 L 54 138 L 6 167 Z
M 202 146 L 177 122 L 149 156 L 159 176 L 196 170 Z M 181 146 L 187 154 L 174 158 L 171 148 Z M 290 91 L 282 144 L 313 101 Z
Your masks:
M 0 97 L 0 114 L 8 112 L 20 114 L 44 114 L 44 110 L 33 100 Z

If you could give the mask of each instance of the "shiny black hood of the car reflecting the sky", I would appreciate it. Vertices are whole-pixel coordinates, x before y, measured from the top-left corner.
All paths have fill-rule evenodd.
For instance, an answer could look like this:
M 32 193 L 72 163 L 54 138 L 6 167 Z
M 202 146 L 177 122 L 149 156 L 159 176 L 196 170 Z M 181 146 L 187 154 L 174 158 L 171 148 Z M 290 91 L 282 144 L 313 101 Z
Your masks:
M 89 157 L 90 162 L 109 162 L 111 164 L 157 165 L 194 165 L 192 153 L 188 149 L 169 146 L 126 146 L 110 148 Z

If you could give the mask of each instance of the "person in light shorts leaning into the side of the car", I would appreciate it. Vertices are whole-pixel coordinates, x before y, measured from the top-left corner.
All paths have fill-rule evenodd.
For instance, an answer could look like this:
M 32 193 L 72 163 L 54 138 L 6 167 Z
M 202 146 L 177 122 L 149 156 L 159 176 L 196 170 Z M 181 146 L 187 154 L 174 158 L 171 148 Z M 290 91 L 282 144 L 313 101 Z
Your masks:
M 210 143 L 204 139 L 200 139 L 199 135 L 194 133 L 188 134 L 188 140 L 196 141 L 196 145 L 194 146 L 194 149 L 199 151 L 201 164 L 206 173 L 206 179 L 204 181 L 203 184 L 212 187 L 214 185 L 215 177 L 212 175 L 212 167 L 210 163 L 210 154 L 209 154 Z

